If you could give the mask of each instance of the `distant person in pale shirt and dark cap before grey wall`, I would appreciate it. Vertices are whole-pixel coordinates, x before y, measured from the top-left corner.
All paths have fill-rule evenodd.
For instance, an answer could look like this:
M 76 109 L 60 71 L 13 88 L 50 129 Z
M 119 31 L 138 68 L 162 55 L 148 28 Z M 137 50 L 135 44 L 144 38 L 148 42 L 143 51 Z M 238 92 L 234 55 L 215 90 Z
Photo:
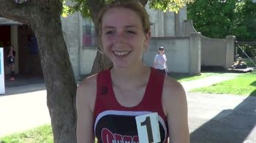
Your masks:
M 165 55 L 165 47 L 158 48 L 158 54 L 154 57 L 154 68 L 159 69 L 162 73 L 167 74 L 166 66 L 167 58 Z

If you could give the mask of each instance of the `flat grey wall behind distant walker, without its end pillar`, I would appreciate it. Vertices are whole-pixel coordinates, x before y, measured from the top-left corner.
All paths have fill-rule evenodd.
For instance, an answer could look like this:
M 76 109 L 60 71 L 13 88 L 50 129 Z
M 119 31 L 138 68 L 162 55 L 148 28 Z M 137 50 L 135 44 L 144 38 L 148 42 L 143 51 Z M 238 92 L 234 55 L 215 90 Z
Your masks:
M 168 72 L 189 72 L 189 36 L 152 38 L 148 50 L 143 55 L 146 65 L 153 66 L 154 57 L 160 46 L 165 47 Z

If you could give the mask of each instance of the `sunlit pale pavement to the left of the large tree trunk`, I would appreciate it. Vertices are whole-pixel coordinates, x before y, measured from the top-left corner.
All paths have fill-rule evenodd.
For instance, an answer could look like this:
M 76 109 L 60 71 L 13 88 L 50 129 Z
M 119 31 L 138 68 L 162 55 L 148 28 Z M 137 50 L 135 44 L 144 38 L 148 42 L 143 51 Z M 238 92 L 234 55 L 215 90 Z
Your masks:
M 0 136 L 50 123 L 44 84 L 6 88 L 0 95 Z

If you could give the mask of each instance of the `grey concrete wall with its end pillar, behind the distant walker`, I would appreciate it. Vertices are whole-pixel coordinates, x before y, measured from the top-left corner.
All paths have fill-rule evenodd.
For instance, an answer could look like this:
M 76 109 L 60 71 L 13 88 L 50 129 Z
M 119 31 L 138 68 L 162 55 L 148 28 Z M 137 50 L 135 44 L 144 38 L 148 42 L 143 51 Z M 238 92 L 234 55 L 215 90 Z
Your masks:
M 148 50 L 143 54 L 146 65 L 153 66 L 154 57 L 160 46 L 165 47 L 168 72 L 200 74 L 200 34 L 152 38 Z

